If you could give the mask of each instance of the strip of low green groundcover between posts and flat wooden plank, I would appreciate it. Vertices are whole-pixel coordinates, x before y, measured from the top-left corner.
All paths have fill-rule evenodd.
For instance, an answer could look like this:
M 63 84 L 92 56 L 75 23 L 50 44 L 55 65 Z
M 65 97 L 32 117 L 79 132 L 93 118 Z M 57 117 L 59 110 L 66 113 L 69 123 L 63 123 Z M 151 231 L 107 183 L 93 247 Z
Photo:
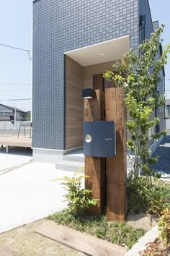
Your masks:
M 127 245 L 128 248 L 145 234 L 143 229 L 134 229 L 126 222 L 109 222 L 106 216 L 76 216 L 63 210 L 48 219 L 114 244 Z

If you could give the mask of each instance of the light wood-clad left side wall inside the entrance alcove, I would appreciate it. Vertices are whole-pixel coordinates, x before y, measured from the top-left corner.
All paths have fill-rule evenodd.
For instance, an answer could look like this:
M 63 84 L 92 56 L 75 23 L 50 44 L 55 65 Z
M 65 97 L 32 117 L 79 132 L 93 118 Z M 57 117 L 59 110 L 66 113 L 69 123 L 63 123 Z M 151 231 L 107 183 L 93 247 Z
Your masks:
M 83 67 L 66 56 L 66 149 L 83 145 Z

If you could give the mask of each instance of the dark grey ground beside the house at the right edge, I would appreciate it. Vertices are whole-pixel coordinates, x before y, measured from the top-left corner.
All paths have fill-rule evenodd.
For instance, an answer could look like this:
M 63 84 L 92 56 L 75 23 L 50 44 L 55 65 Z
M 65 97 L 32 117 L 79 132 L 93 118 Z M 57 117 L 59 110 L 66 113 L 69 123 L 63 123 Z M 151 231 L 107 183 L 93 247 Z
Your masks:
M 170 174 L 170 131 L 167 132 L 166 137 L 161 141 L 156 154 L 160 156 L 159 161 L 153 165 L 156 171 L 164 171 Z

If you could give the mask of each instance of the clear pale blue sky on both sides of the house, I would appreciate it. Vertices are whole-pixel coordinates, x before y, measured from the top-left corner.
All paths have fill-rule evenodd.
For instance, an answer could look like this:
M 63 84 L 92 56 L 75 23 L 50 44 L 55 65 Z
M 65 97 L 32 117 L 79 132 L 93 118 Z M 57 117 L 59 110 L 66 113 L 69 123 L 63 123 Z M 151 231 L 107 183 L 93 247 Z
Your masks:
M 170 43 L 169 0 L 149 0 L 152 19 L 165 24 L 164 45 Z M 32 0 L 1 1 L 0 43 L 31 51 Z M 166 96 L 170 98 L 170 59 L 166 65 Z M 18 101 L 18 99 L 25 99 Z M 0 103 L 31 109 L 31 61 L 27 51 L 0 45 Z M 26 100 L 29 99 L 29 100 Z M 6 101 L 8 100 L 8 101 Z M 9 101 L 12 100 L 12 101 Z

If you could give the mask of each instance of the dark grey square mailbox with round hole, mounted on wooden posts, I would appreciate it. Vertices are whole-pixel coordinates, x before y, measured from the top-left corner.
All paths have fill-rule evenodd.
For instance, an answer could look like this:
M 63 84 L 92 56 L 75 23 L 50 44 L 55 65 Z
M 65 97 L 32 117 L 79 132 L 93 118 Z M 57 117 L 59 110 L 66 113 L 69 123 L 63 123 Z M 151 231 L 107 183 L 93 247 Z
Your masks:
M 84 155 L 116 155 L 115 121 L 84 121 Z

